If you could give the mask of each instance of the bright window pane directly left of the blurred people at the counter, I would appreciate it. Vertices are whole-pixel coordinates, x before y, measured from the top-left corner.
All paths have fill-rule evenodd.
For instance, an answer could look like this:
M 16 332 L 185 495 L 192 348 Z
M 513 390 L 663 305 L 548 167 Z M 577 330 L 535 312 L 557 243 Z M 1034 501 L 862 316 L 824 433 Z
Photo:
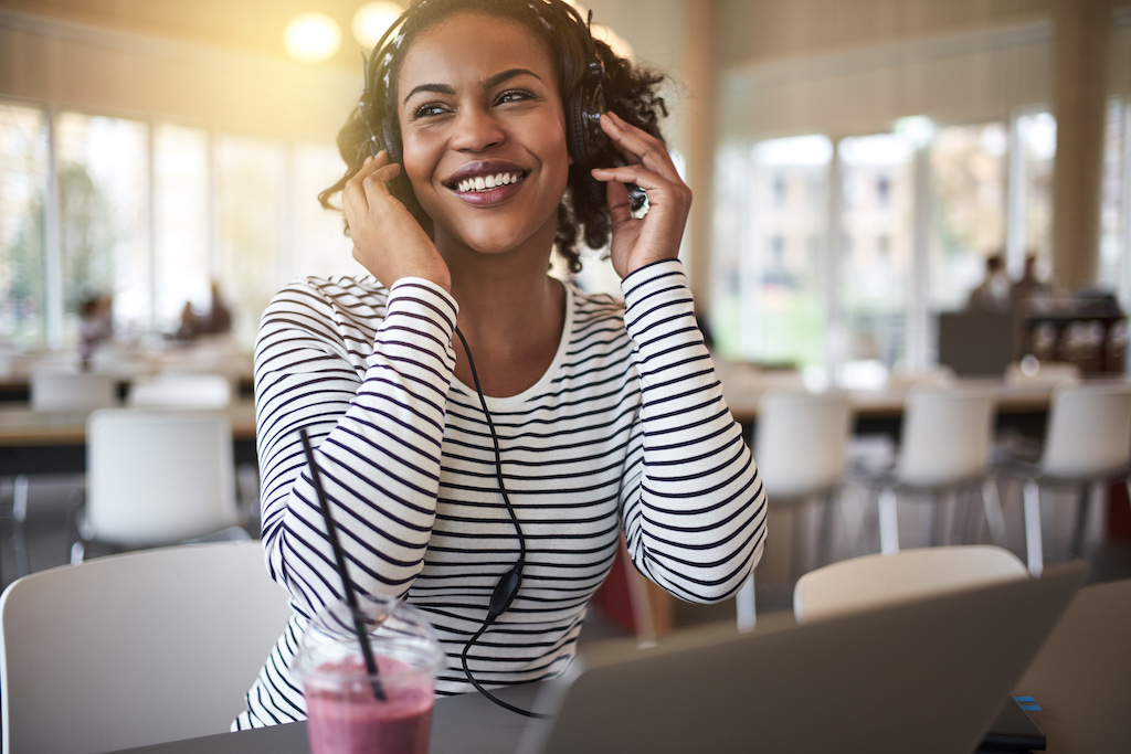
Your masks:
M 985 259 L 1005 249 L 1004 123 L 939 129 L 931 145 L 931 304 L 966 305 Z

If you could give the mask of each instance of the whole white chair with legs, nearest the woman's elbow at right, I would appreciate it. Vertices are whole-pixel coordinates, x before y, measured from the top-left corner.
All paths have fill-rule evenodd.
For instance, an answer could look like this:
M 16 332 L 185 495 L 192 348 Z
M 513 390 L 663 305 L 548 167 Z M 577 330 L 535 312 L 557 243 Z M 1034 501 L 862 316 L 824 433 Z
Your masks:
M 758 401 L 754 427 L 754 461 L 771 508 L 792 509 L 793 544 L 791 575 L 803 569 L 804 549 L 798 506 L 820 499 L 823 505 L 814 560 L 819 564 L 831 549 L 836 493 L 845 470 L 852 406 L 843 392 L 810 393 L 769 390 Z M 735 596 L 740 629 L 756 619 L 754 580 L 751 575 Z

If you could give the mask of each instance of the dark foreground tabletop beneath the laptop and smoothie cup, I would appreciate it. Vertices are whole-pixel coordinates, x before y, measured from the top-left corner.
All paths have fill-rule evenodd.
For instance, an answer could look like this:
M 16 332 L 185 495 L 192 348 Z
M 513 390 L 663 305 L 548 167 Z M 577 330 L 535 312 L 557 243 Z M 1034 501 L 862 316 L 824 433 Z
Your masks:
M 1025 619 L 1018 616 L 1018 619 Z M 1085 587 L 1015 687 L 1033 696 L 1031 717 L 1048 739 L 1048 754 L 1126 751 L 1131 740 L 1131 579 Z M 500 695 L 532 704 L 537 684 Z M 529 708 L 527 708 L 529 709 Z M 437 701 L 434 754 L 515 752 L 524 733 L 544 725 L 495 707 L 478 694 Z M 305 723 L 205 736 L 129 749 L 129 754 L 305 754 Z M 124 754 L 124 753 L 121 753 Z

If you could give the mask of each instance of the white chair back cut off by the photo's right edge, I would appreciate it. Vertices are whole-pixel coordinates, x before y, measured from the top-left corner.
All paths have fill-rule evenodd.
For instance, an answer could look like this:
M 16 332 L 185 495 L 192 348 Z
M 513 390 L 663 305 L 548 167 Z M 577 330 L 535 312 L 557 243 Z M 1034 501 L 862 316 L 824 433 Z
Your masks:
M 1062 385 L 1053 391 L 1041 457 L 1054 477 L 1095 477 L 1131 461 L 1131 385 Z

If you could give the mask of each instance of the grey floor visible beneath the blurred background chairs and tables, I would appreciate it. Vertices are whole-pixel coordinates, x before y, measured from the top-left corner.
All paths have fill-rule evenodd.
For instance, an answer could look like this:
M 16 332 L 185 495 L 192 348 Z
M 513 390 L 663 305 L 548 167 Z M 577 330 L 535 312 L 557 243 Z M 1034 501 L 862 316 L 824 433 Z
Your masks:
M 79 478 L 70 476 L 33 478 L 25 523 L 28 561 L 33 572 L 69 562 L 72 536 L 68 535 L 68 520 L 74 493 L 79 482 Z M 1005 518 L 1004 545 L 1024 560 L 1020 488 L 1016 485 L 1001 485 L 1000 489 Z M 0 480 L 0 510 L 10 509 L 11 494 L 11 480 Z M 1125 505 L 1125 501 L 1119 501 L 1119 504 Z M 1051 495 L 1046 494 L 1044 497 L 1046 563 L 1068 558 L 1076 508 L 1071 495 L 1059 495 L 1055 504 Z M 1091 569 L 1089 577 L 1091 582 L 1131 578 L 1131 537 L 1111 534 L 1107 508 L 1106 502 L 1094 503 L 1089 508 L 1085 558 Z M 844 491 L 836 509 L 837 514 L 832 518 L 831 560 L 879 549 L 873 509 L 873 499 L 866 489 L 848 487 Z M 938 510 L 943 512 L 941 519 L 935 514 Z M 964 511 L 967 512 L 965 519 Z M 819 504 L 798 508 L 771 506 L 768 545 L 756 572 L 759 615 L 792 609 L 793 583 L 796 577 L 817 563 L 813 554 L 814 532 L 819 528 L 821 512 Z M 939 520 L 949 526 L 940 528 Z M 3 587 L 16 574 L 10 526 L 10 521 L 0 520 L 0 586 Z M 932 536 L 939 536 L 936 532 L 943 529 L 953 532 L 950 539 L 957 538 L 958 531 L 965 531 L 962 539 L 966 541 L 988 541 L 981 503 L 977 500 L 958 500 L 935 506 L 926 501 L 900 499 L 900 546 L 929 545 L 932 543 Z M 88 549 L 87 557 L 96 557 L 105 552 L 97 548 Z M 675 603 L 673 623 L 680 629 L 715 621 L 733 621 L 734 617 L 733 600 L 718 605 Z M 618 626 L 604 621 L 599 614 L 592 616 L 587 627 L 589 638 L 615 636 L 623 632 Z

